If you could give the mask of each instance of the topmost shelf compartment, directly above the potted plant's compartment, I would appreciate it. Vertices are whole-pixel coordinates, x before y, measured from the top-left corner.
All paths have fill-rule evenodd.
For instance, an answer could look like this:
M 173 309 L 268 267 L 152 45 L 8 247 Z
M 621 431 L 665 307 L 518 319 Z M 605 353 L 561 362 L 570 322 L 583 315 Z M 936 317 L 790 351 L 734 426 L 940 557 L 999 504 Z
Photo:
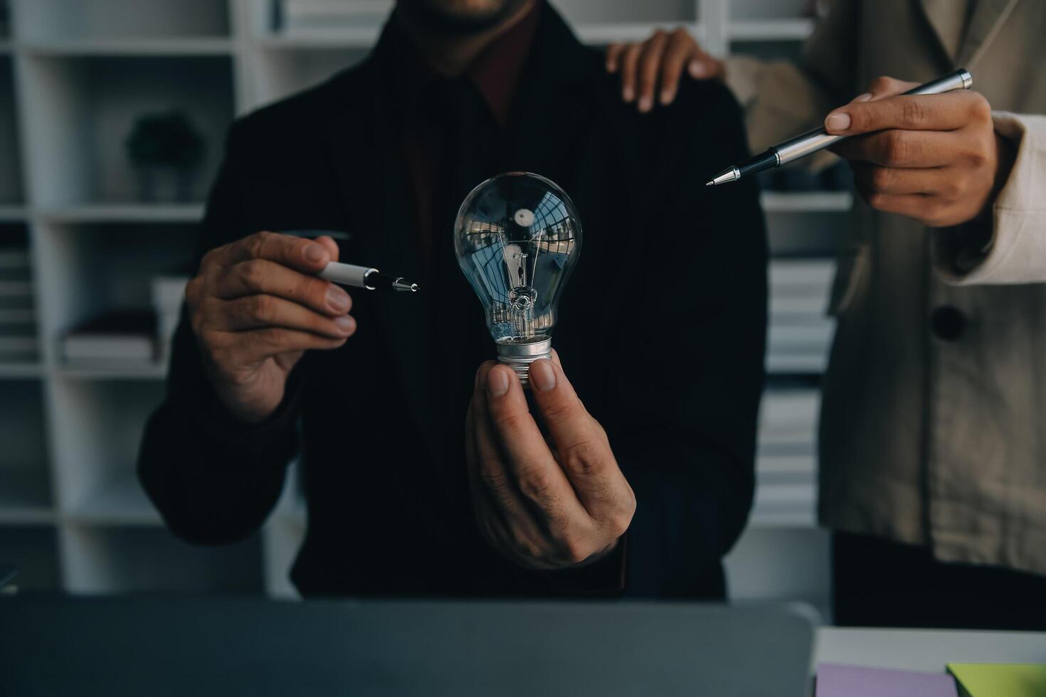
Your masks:
M 226 0 L 12 0 L 26 42 L 229 37 Z

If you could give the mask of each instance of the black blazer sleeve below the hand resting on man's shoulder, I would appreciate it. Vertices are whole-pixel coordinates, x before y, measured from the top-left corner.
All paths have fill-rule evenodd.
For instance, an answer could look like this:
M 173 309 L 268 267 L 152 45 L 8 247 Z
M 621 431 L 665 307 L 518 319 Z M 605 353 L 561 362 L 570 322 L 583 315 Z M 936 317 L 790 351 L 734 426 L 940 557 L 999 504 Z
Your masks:
M 708 175 L 748 155 L 741 111 L 718 84 L 681 91 L 651 166 L 630 258 L 611 446 L 636 493 L 628 595 L 711 590 L 748 519 L 763 390 L 767 238 L 751 180 Z M 701 134 L 712 134 L 714 137 Z M 720 590 L 721 591 L 721 590 Z

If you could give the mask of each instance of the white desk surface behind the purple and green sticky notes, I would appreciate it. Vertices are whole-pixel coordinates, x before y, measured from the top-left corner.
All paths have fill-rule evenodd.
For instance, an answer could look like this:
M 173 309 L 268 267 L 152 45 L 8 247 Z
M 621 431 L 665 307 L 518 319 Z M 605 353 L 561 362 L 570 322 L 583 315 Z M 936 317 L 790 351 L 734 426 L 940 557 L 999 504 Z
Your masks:
M 948 663 L 1046 664 L 1046 633 L 821 627 L 818 663 L 930 672 Z

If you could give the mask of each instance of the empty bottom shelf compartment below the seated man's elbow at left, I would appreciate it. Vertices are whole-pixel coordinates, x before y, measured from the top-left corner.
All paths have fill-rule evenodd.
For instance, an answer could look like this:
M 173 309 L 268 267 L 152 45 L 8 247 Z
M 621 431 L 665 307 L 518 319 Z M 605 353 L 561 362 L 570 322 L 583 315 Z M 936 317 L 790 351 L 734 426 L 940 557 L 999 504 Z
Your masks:
M 71 593 L 262 593 L 257 535 L 223 547 L 195 547 L 163 528 L 69 524 L 63 535 Z

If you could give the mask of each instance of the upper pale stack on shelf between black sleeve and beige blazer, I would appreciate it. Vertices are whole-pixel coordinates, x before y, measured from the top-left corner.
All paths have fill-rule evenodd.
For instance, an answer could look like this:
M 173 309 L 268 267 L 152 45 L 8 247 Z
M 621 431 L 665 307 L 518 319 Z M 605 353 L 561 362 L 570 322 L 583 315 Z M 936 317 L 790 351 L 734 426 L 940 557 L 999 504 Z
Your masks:
M 826 315 L 834 273 L 835 262 L 828 259 L 770 262 L 769 372 L 824 372 L 835 330 Z

